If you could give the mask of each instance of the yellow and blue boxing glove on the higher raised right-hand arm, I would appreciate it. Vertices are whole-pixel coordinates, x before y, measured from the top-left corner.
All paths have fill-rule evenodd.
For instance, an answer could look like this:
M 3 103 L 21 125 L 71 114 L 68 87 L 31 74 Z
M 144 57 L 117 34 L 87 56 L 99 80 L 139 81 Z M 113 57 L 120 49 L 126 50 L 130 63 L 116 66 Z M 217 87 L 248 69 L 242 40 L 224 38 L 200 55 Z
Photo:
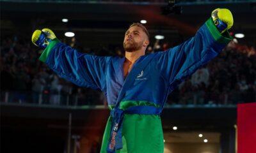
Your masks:
M 212 11 L 212 20 L 218 30 L 224 33 L 233 25 L 233 16 L 227 8 L 216 8 Z

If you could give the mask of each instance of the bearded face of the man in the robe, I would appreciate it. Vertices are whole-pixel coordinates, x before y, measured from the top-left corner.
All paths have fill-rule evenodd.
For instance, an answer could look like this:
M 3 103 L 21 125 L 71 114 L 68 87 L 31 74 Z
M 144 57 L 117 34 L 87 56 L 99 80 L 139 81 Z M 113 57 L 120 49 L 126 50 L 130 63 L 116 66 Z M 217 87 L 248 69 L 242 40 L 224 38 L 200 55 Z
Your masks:
M 141 27 L 133 26 L 130 27 L 124 37 L 124 50 L 126 52 L 134 52 L 140 50 L 142 47 L 148 45 L 147 34 L 141 29 Z

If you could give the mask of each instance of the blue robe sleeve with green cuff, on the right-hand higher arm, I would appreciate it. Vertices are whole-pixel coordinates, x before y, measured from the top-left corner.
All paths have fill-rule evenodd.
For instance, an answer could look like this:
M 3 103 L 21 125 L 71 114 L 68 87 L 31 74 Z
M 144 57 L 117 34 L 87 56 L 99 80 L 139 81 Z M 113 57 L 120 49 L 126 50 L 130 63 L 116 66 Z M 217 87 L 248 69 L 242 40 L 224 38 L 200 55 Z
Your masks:
M 173 89 L 200 66 L 216 57 L 230 40 L 232 37 L 228 31 L 221 34 L 212 18 L 209 18 L 193 38 L 165 52 L 159 52 L 157 69 Z

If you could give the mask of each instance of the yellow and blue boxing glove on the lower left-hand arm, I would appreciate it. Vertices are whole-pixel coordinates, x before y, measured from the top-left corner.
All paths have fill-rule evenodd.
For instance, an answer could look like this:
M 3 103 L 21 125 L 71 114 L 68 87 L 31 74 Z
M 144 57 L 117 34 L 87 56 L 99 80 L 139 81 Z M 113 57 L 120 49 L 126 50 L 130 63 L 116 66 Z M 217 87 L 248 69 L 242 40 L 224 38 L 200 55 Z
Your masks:
M 51 29 L 44 28 L 42 31 L 36 30 L 32 35 L 32 43 L 36 46 L 44 49 L 49 43 L 56 38 Z

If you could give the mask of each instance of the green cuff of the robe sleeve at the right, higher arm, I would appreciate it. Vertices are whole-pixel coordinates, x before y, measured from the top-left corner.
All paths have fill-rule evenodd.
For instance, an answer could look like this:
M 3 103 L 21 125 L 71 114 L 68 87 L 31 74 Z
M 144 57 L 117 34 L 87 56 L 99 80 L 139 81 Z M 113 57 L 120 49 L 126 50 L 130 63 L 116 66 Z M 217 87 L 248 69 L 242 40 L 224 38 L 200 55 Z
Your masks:
M 208 27 L 212 36 L 214 37 L 214 40 L 218 41 L 219 43 L 227 45 L 232 40 L 232 36 L 230 36 L 228 31 L 225 31 L 222 34 L 220 33 L 220 31 L 218 30 L 216 25 L 214 25 L 214 22 L 213 22 L 212 18 L 209 18 L 205 22 L 205 24 Z

